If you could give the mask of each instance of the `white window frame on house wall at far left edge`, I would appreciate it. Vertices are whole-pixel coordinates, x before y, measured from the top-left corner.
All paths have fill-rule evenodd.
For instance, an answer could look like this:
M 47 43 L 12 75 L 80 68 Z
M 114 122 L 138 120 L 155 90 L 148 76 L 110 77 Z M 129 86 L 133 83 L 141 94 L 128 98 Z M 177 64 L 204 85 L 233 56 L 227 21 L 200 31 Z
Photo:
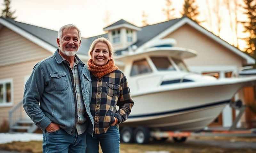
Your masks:
M 11 84 L 11 101 L 9 103 L 6 102 L 6 84 L 10 83 Z M 0 107 L 8 107 L 8 106 L 13 106 L 13 79 L 0 79 L 0 84 L 3 84 L 3 89 L 4 89 L 4 102 L 0 103 Z

